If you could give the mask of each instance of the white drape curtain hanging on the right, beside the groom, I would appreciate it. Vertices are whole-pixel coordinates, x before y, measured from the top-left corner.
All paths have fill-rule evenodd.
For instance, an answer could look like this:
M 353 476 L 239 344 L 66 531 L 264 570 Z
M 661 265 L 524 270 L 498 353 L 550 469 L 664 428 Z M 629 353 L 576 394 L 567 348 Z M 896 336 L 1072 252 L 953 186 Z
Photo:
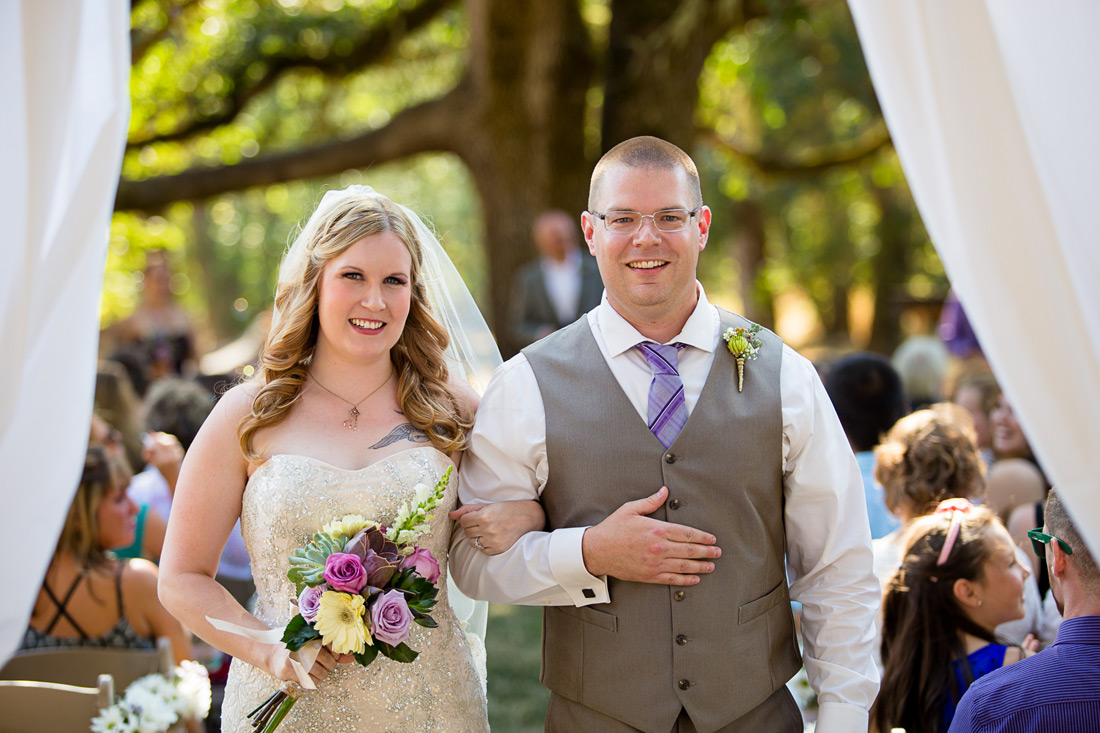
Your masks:
M 947 274 L 1100 557 L 1100 3 L 848 4 Z

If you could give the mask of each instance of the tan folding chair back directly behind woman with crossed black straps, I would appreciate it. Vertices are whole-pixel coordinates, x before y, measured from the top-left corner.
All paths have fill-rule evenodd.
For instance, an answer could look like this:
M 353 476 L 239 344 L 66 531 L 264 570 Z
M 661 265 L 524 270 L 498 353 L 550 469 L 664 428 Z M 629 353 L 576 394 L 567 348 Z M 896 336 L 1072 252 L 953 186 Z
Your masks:
M 99 647 L 59 647 L 26 649 L 13 656 L 0 669 L 0 680 L 38 680 L 58 685 L 91 687 L 100 675 L 110 675 L 121 693 L 139 677 L 161 672 L 170 675 L 174 667 L 172 643 L 156 639 L 155 649 L 117 649 Z

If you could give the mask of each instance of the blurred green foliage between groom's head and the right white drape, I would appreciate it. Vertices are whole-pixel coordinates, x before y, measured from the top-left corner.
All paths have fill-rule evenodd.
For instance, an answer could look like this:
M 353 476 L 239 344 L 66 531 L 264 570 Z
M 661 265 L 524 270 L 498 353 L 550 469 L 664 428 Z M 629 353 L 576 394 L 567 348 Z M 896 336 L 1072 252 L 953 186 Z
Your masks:
M 897 155 L 882 145 L 888 132 L 847 6 L 799 12 L 787 4 L 712 50 L 697 117 L 715 134 L 701 172 L 704 184 L 717 178 L 722 197 L 761 203 L 768 241 L 758 284 L 768 297 L 798 288 L 826 332 L 846 332 L 855 289 L 943 294 L 946 280 Z M 881 238 L 899 234 L 883 230 L 883 196 L 902 204 L 911 223 L 903 247 L 923 265 L 903 282 L 876 280 Z M 723 270 L 744 263 L 722 248 L 741 232 L 736 221 L 715 220 L 708 249 L 716 251 L 701 278 L 711 288 L 732 287 Z

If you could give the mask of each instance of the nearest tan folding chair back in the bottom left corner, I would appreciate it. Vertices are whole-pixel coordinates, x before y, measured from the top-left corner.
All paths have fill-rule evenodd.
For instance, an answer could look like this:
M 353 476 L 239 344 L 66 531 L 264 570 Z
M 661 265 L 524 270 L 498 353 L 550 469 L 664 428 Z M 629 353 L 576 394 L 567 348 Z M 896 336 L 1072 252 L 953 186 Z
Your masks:
M 110 675 L 100 675 L 96 687 L 0 680 L 0 731 L 87 731 L 91 719 L 113 702 Z

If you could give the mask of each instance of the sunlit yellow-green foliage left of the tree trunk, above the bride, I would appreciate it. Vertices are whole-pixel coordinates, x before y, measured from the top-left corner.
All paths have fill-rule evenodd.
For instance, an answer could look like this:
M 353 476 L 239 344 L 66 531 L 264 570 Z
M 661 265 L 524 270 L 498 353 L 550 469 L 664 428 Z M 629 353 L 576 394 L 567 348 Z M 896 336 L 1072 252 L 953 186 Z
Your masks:
M 360 40 L 416 4 L 138 3 L 131 15 L 138 57 L 131 70 L 123 176 L 140 180 L 352 136 L 447 91 L 462 73 L 469 42 L 461 10 L 443 11 L 416 32 L 398 33 L 388 53 L 397 63 L 354 65 Z M 170 20 L 166 9 L 172 9 Z M 292 68 L 271 80 L 270 73 L 284 66 Z M 239 103 L 241 112 L 231 121 L 202 127 Z M 174 138 L 195 125 L 198 134 Z M 373 185 L 429 215 L 472 291 L 485 298 L 479 203 L 469 174 L 453 155 L 428 154 L 369 172 L 275 184 L 198 205 L 180 203 L 152 217 L 116 214 L 102 324 L 109 326 L 136 307 L 144 253 L 167 249 L 180 275 L 174 291 L 199 326 L 200 346 L 209 349 L 237 337 L 271 307 L 279 260 L 299 223 L 324 190 L 352 183 Z

